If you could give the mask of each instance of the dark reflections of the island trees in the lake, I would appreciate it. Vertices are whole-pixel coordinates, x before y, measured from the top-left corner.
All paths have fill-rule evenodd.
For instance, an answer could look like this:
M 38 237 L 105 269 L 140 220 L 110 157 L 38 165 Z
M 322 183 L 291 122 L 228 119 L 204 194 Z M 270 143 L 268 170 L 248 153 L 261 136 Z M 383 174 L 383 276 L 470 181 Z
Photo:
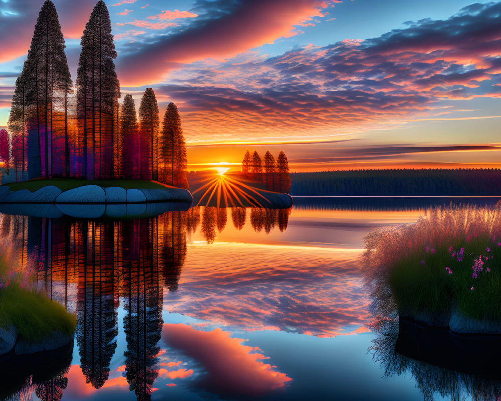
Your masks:
M 266 233 L 277 225 L 283 231 L 289 213 L 289 209 L 252 208 L 251 225 Z M 216 207 L 129 221 L 0 215 L 0 238 L 12 248 L 13 266 L 30 278 L 26 285 L 76 314 L 80 369 L 95 389 L 110 378 L 118 307 L 123 306 L 125 380 L 143 400 L 150 398 L 158 377 L 164 291 L 178 289 L 187 236 L 201 226 L 206 241 L 213 242 L 216 229 L 226 228 L 227 215 L 226 208 Z M 231 209 L 237 230 L 244 227 L 246 216 L 246 208 Z M 22 378 L 13 391 L 18 396 L 19 391 L 34 391 L 44 400 L 61 399 L 71 360 L 63 362 L 64 369 L 58 365 L 55 376 L 33 376 L 28 382 Z

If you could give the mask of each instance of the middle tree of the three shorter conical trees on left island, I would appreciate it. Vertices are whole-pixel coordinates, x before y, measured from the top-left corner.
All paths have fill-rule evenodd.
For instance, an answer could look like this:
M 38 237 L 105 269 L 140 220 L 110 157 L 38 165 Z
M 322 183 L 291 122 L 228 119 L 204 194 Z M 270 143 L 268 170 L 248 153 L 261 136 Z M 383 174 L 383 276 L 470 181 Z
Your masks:
M 158 180 L 158 111 L 155 92 L 146 88 L 139 106 L 141 179 Z

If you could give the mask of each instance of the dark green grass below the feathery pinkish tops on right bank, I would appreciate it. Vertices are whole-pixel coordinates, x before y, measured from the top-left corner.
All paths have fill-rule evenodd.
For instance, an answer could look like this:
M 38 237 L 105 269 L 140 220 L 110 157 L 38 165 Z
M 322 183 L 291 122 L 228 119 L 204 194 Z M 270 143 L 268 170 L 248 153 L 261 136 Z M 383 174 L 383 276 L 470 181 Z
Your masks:
M 422 250 L 402 258 L 388 277 L 399 309 L 411 313 L 423 310 L 441 313 L 457 306 L 472 318 L 501 320 L 501 247 L 496 244 L 485 237 L 451 244 L 454 250 L 464 247 L 462 261 L 452 257 L 449 246 L 445 245 L 438 247 L 435 253 Z M 490 252 L 486 251 L 487 247 Z M 473 278 L 472 266 L 479 255 L 484 261 L 483 270 Z M 485 260 L 487 255 L 488 261 Z

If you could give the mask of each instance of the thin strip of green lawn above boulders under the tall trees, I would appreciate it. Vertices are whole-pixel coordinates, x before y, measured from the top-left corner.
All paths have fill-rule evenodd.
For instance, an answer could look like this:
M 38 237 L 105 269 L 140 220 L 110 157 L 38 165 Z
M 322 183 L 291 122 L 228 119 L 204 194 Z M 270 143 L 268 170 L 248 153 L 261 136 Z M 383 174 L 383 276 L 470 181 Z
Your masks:
M 63 192 L 69 189 L 78 188 L 84 185 L 98 185 L 103 188 L 110 186 L 118 186 L 124 189 L 161 189 L 165 188 L 164 185 L 152 181 L 137 181 L 132 179 L 124 180 L 87 180 L 87 179 L 68 179 L 68 178 L 54 178 L 54 179 L 34 179 L 25 182 L 13 182 L 4 184 L 12 191 L 19 191 L 21 189 L 28 189 L 30 192 L 35 192 L 40 188 L 48 185 L 54 185 L 61 189 Z

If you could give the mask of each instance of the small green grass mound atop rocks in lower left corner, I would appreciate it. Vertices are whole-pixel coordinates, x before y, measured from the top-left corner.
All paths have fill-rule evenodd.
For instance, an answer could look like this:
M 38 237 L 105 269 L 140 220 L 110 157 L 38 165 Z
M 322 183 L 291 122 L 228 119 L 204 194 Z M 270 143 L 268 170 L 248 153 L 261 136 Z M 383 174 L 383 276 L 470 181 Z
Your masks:
M 76 318 L 57 302 L 13 284 L 0 290 L 0 327 L 10 325 L 22 339 L 38 342 L 54 331 L 73 334 Z

